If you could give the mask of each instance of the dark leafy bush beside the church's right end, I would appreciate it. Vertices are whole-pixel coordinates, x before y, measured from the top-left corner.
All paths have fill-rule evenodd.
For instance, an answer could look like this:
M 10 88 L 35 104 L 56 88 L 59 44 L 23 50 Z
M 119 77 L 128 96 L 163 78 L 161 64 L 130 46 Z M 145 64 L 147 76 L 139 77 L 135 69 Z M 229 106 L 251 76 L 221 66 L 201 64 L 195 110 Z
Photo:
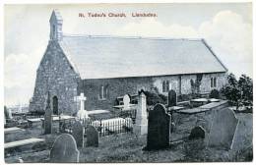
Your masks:
M 239 106 L 252 106 L 252 85 L 252 79 L 245 75 L 237 81 L 233 74 L 229 74 L 221 92 L 232 105 L 236 106 L 236 109 Z

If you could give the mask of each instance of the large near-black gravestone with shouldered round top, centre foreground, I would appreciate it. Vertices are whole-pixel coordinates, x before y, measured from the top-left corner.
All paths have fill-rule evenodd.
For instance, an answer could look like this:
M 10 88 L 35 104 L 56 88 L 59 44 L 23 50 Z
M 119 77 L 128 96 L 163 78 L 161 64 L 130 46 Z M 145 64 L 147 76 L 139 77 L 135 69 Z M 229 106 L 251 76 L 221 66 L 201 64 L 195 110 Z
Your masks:
M 147 150 L 162 149 L 169 146 L 170 116 L 162 104 L 149 111 Z

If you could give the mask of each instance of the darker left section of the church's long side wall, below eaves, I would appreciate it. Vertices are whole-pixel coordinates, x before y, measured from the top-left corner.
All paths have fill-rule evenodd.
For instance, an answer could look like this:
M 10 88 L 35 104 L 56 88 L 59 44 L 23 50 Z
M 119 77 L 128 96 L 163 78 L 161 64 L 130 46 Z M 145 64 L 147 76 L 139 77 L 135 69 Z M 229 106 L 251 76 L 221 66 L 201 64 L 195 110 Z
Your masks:
M 107 88 L 105 99 L 99 99 L 100 87 Z M 137 94 L 139 89 L 151 90 L 153 87 L 151 78 L 114 78 L 114 79 L 94 79 L 83 80 L 79 84 L 78 93 L 84 92 L 86 110 L 113 109 L 118 96 L 125 94 Z

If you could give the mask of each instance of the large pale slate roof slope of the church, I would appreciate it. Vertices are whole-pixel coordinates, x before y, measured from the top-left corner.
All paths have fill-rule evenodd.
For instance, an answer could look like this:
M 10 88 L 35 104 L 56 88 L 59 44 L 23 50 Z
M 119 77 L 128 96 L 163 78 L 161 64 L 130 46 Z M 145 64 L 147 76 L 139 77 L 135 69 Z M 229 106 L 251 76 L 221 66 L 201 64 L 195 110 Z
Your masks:
M 204 39 L 63 35 L 59 43 L 82 79 L 227 71 Z

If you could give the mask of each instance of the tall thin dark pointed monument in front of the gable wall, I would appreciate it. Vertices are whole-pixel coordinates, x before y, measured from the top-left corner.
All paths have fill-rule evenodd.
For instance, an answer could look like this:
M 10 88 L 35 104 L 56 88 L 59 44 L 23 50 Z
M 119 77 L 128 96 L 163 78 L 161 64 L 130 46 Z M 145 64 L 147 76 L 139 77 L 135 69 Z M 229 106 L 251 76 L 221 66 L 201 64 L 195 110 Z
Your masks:
M 47 95 L 47 104 L 44 113 L 44 134 L 52 133 L 52 110 L 50 108 L 50 92 Z

